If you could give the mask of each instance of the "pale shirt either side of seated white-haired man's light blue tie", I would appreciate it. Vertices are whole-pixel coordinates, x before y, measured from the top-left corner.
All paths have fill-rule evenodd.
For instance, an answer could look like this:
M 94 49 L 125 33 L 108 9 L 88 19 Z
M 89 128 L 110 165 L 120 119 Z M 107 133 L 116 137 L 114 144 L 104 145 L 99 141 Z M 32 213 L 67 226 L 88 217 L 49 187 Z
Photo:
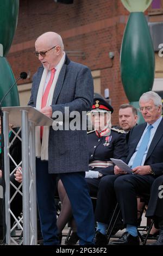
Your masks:
M 152 139 L 153 139 L 153 137 L 154 137 L 154 135 L 155 135 L 156 130 L 158 129 L 158 126 L 159 126 L 161 120 L 162 120 L 162 117 L 160 117 L 158 120 L 156 120 L 156 121 L 152 124 L 153 127 L 152 127 L 152 129 L 151 129 L 151 135 L 150 135 L 150 138 L 149 138 L 149 142 L 148 142 L 147 149 L 146 149 L 145 154 L 143 155 L 143 159 L 142 159 L 142 161 L 141 161 L 141 166 L 143 166 L 144 163 L 145 163 L 149 146 L 151 145 Z M 141 144 L 141 142 L 142 142 L 142 139 L 143 139 L 143 137 L 145 136 L 145 133 L 147 132 L 148 126 L 149 126 L 149 124 L 147 123 L 146 129 L 144 130 L 144 132 L 143 132 L 143 134 L 142 134 L 142 136 L 141 136 L 141 138 L 140 138 L 140 141 L 139 141 L 139 143 L 137 144 L 137 147 L 136 147 L 136 149 L 135 149 L 135 152 L 134 152 L 134 154 L 133 154 L 133 155 L 131 156 L 131 158 L 130 158 L 130 161 L 129 161 L 129 163 L 128 163 L 128 166 L 130 166 L 130 167 L 133 165 L 135 156 L 136 156 L 136 154 L 137 154 L 137 150 L 139 149 L 140 144 Z

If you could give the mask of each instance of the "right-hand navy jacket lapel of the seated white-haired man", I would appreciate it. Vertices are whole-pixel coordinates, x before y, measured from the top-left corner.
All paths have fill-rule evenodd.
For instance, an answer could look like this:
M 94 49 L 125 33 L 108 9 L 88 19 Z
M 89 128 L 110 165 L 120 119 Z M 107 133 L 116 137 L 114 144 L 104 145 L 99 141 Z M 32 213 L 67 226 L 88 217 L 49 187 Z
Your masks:
M 152 139 L 151 145 L 149 146 L 148 153 L 147 153 L 147 156 L 146 156 L 146 160 L 148 159 L 149 156 L 151 156 L 156 144 L 158 144 L 162 135 L 163 135 L 163 119 L 161 120 L 161 122 L 158 126 L 158 129 L 156 130 L 155 135 Z

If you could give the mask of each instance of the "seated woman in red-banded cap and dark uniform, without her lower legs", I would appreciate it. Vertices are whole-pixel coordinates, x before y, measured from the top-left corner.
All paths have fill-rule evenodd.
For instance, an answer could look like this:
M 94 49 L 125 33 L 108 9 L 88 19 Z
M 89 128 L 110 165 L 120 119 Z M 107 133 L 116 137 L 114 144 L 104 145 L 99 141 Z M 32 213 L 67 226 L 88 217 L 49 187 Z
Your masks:
M 91 118 L 95 130 L 88 132 L 89 172 L 85 174 L 91 196 L 97 196 L 99 178 L 114 174 L 110 158 L 121 159 L 126 149 L 126 132 L 115 127 L 111 128 L 109 115 L 112 112 L 113 108 L 108 102 L 101 98 L 94 99 Z M 108 124 L 103 121 L 106 117 Z

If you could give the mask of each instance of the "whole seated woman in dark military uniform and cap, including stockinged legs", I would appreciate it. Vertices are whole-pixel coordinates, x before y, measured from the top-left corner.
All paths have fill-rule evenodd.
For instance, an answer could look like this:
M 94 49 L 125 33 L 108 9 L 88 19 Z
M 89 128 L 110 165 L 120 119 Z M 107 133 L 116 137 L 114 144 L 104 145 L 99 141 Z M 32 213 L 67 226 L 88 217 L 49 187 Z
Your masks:
M 89 172 L 85 174 L 91 197 L 97 197 L 101 177 L 114 174 L 114 167 L 110 158 L 121 159 L 126 149 L 126 132 L 111 128 L 112 112 L 113 108 L 104 99 L 95 98 L 93 100 L 91 119 L 95 130 L 88 132 L 87 136 L 89 144 Z M 66 223 L 71 223 L 73 232 L 67 244 L 72 245 L 78 241 L 76 225 L 72 217 L 70 201 L 60 180 L 58 182 L 58 192 L 62 202 L 61 212 L 57 220 L 58 230 L 61 234 Z

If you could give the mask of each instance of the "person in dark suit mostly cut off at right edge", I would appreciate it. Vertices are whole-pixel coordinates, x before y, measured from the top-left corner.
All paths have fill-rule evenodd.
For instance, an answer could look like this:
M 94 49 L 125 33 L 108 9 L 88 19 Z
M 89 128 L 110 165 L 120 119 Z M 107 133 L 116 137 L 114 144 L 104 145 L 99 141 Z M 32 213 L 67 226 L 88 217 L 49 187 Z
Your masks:
M 160 229 L 158 240 L 152 245 L 163 245 L 163 175 L 152 184 L 146 217 L 154 220 L 154 227 Z

